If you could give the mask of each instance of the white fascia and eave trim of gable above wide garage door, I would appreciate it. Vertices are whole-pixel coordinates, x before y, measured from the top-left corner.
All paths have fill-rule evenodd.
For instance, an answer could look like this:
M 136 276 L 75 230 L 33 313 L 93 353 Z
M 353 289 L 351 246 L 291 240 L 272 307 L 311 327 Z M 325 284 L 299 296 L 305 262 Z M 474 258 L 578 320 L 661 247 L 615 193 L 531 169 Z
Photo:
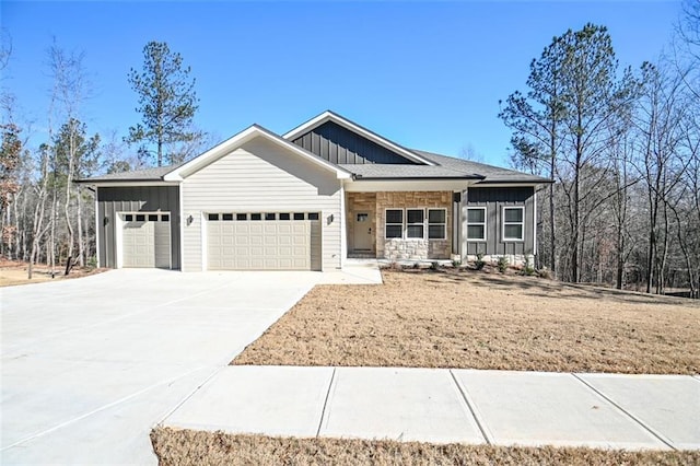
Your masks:
M 320 158 L 317 158 L 316 155 L 312 154 L 311 152 L 304 150 L 303 148 L 300 148 L 299 145 L 287 141 L 282 138 L 280 138 L 279 136 L 275 135 L 273 132 L 270 132 L 257 125 L 250 126 L 247 129 L 244 129 L 243 131 L 238 132 L 236 136 L 223 141 L 222 143 L 220 143 L 219 145 L 208 150 L 207 152 L 202 153 L 201 155 L 190 160 L 189 162 L 187 162 L 186 164 L 179 166 L 178 168 L 172 171 L 171 173 L 166 174 L 163 179 L 165 180 L 183 180 L 185 177 L 187 177 L 188 175 L 199 171 L 200 168 L 203 168 L 205 166 L 209 165 L 210 163 L 214 162 L 217 159 L 219 159 L 220 156 L 223 156 L 236 149 L 238 149 L 240 147 L 242 147 L 243 144 L 245 144 L 246 142 L 255 139 L 255 138 L 265 138 L 278 145 L 281 145 L 282 148 L 290 150 L 291 152 L 296 153 L 298 155 L 301 155 L 302 158 L 323 166 L 326 170 L 329 170 L 331 172 L 334 172 L 337 176 L 338 179 L 346 179 L 346 178 L 351 178 L 352 174 L 339 166 L 336 166 L 334 164 L 331 164 L 330 162 L 327 162 Z

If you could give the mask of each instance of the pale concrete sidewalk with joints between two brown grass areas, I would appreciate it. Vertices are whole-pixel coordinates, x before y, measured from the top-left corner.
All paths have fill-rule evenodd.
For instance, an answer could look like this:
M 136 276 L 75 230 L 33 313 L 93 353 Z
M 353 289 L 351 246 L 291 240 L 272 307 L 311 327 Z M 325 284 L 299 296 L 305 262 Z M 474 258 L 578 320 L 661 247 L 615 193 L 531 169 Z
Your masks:
M 281 436 L 700 448 L 700 378 L 226 366 L 162 423 Z

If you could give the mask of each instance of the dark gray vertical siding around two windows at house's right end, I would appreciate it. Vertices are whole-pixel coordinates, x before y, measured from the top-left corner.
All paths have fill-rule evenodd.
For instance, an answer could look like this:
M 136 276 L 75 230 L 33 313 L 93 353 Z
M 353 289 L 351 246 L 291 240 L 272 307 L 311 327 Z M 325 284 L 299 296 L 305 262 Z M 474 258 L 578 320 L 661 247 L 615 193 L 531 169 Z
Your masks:
M 463 255 L 532 255 L 535 252 L 535 188 L 470 187 L 462 197 Z M 486 242 L 467 241 L 467 209 L 486 207 Z M 525 207 L 524 241 L 503 241 L 503 207 Z

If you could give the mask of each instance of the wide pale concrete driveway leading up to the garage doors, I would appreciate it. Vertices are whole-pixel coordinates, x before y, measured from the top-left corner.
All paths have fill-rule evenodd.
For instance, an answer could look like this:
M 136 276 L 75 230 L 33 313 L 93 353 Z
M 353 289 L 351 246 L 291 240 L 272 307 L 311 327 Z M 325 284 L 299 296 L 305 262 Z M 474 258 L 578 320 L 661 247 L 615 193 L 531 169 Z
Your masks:
M 0 463 L 156 464 L 151 428 L 319 279 L 113 270 L 0 289 Z

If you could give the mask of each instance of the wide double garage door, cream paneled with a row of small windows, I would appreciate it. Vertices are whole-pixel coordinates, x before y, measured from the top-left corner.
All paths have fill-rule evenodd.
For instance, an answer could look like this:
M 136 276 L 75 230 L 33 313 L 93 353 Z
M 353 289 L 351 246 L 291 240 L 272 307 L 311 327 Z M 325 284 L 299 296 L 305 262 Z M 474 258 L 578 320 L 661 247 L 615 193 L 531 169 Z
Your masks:
M 320 270 L 317 212 L 207 214 L 210 270 Z

